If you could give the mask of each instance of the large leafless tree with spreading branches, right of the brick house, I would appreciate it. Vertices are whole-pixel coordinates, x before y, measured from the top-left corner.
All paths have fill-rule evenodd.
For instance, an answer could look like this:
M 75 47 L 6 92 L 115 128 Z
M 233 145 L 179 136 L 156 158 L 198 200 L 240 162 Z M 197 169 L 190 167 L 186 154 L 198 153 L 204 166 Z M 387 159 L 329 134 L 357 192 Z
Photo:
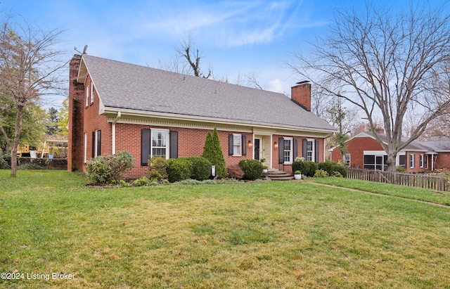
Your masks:
M 297 53 L 298 63 L 290 65 L 364 111 L 371 131 L 376 115 L 382 115 L 387 139 L 373 135 L 387 153 L 390 171 L 399 150 L 450 104 L 450 17 L 444 4 L 421 5 L 411 3 L 395 15 L 383 6 L 368 5 L 365 13 L 339 10 L 330 33 L 312 43 L 312 56 Z M 412 108 L 420 117 L 402 142 L 404 116 Z

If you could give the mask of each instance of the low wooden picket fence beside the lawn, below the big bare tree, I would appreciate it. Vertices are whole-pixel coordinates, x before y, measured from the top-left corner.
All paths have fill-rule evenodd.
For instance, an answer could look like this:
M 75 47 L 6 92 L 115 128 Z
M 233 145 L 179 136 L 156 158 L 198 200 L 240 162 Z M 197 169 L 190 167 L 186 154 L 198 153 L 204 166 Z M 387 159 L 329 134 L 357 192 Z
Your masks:
M 379 181 L 381 183 L 401 186 L 416 186 L 430 188 L 437 191 L 446 191 L 449 185 L 442 176 L 431 174 L 406 174 L 401 172 L 382 172 L 378 169 L 354 169 L 347 167 L 347 178 L 364 181 Z

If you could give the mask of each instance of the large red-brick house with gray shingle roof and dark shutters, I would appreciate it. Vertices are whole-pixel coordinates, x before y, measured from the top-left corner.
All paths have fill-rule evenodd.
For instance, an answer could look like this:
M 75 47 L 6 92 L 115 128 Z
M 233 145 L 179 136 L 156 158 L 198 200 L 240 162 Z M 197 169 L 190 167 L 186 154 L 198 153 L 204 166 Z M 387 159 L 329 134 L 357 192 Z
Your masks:
M 285 169 L 297 156 L 323 162 L 335 129 L 310 112 L 311 84 L 283 94 L 181 75 L 85 53 L 70 62 L 68 170 L 97 155 L 128 150 L 148 172 L 149 155 L 202 155 L 217 127 L 226 165 L 266 158 Z

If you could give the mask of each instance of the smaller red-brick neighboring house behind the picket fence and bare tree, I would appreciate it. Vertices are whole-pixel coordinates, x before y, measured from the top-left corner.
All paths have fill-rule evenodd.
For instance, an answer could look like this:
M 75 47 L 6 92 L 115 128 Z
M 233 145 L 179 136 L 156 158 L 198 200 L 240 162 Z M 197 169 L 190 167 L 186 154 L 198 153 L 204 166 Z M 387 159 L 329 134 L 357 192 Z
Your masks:
M 377 130 L 376 134 L 380 139 L 386 139 L 383 129 Z M 402 141 L 406 140 L 407 138 L 402 138 Z M 347 152 L 342 160 L 337 147 L 331 148 L 331 160 L 344 161 L 352 167 L 364 169 L 387 169 L 387 153 L 370 131 L 361 132 L 349 139 Z M 397 154 L 395 165 L 406 168 L 408 172 L 450 169 L 450 139 L 444 137 L 433 141 L 412 141 Z

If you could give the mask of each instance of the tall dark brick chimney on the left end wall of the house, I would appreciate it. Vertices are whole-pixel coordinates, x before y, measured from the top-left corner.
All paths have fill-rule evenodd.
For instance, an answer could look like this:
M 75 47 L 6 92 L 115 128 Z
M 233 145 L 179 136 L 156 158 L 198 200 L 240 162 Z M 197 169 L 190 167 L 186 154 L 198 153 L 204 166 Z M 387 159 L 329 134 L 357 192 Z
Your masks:
M 68 171 L 83 169 L 84 84 L 77 82 L 82 56 L 75 54 L 69 66 Z

